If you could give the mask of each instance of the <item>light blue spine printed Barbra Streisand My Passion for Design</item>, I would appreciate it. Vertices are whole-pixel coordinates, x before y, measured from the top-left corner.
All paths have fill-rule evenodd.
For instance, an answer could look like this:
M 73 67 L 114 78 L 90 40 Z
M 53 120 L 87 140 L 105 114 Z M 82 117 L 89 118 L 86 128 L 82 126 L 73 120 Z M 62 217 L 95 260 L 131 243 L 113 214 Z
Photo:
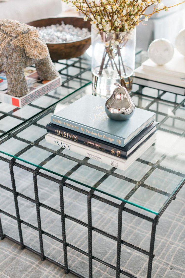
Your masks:
M 82 134 L 86 134 L 88 136 L 98 138 L 102 141 L 112 143 L 112 144 L 120 146 L 120 147 L 124 147 L 124 139 L 120 138 L 118 136 L 110 135 L 109 133 L 103 133 L 102 131 L 95 130 L 93 128 L 90 128 L 90 127 L 87 127 L 84 125 L 80 125 L 78 123 L 73 123 L 71 121 L 62 119 L 55 115 L 51 115 L 51 122 L 54 123 L 55 125 L 63 126 L 70 130 L 75 130 Z

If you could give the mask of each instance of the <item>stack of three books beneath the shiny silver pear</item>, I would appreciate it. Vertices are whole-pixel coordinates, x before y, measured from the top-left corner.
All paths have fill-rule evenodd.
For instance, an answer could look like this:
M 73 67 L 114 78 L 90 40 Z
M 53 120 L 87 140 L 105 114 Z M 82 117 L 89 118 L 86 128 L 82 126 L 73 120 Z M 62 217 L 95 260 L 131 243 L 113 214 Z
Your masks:
M 105 99 L 86 95 L 51 116 L 47 142 L 126 170 L 154 142 L 155 113 L 135 108 L 126 121 L 105 113 Z M 72 156 L 72 153 L 71 153 Z

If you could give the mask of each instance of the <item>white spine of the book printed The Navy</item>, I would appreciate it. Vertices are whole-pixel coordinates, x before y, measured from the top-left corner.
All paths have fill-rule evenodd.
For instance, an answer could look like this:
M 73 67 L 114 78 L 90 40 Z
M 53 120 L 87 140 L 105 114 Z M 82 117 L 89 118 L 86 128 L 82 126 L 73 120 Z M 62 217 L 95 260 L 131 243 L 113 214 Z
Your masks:
M 52 145 L 58 146 L 60 148 L 65 148 L 80 155 L 84 155 L 85 157 L 89 157 L 93 160 L 105 163 L 109 166 L 116 167 L 120 170 L 124 170 L 125 168 L 125 162 L 124 160 L 121 161 L 120 158 L 114 159 L 111 155 L 105 155 L 101 151 L 93 150 L 92 148 L 86 146 L 81 147 L 82 145 L 76 142 L 72 142 L 68 139 L 64 140 L 57 135 L 47 134 L 45 136 L 45 139 L 46 142 L 51 143 Z

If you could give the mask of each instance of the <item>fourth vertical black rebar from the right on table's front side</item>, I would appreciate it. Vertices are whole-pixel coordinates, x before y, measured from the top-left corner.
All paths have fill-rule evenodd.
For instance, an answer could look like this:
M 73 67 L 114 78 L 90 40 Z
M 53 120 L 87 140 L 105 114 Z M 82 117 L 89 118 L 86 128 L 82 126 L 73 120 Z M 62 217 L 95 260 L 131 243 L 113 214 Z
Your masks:
M 60 214 L 61 214 L 61 223 L 62 223 L 62 241 L 63 241 L 63 249 L 64 249 L 64 266 L 65 266 L 65 274 L 69 272 L 68 264 L 67 264 L 67 244 L 66 244 L 66 234 L 65 234 L 65 213 L 64 213 L 64 182 L 63 178 L 59 185 L 60 192 Z

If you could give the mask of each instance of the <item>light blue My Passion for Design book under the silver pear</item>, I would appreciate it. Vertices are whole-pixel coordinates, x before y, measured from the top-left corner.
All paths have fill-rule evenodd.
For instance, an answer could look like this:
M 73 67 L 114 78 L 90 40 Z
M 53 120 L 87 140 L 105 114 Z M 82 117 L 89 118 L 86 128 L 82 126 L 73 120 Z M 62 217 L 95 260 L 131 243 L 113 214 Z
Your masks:
M 51 122 L 88 136 L 124 147 L 155 120 L 155 113 L 135 108 L 126 121 L 115 121 L 105 113 L 106 100 L 86 95 L 51 116 Z

